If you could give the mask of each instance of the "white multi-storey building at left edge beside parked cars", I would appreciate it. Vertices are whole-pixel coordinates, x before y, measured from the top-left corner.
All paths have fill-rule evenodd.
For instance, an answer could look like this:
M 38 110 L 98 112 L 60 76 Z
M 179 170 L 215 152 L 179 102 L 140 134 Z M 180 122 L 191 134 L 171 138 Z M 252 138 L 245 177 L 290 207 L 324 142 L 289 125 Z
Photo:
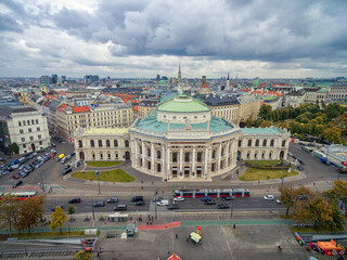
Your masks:
M 47 117 L 34 107 L 0 107 L 0 146 L 16 143 L 20 154 L 50 146 Z

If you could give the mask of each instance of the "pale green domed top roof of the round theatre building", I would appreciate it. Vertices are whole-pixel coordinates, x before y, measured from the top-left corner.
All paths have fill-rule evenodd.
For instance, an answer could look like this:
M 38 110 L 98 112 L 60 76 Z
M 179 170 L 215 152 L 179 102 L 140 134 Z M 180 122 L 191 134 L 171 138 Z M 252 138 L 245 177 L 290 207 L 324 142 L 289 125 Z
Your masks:
M 202 102 L 193 100 L 187 95 L 178 95 L 172 100 L 166 101 L 158 106 L 160 112 L 208 112 L 209 108 Z

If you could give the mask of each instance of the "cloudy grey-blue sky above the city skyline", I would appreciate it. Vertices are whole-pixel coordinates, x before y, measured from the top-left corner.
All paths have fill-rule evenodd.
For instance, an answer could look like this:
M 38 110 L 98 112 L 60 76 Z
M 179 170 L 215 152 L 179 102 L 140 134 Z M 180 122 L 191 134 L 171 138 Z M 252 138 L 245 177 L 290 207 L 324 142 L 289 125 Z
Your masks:
M 347 77 L 346 0 L 1 0 L 0 77 Z

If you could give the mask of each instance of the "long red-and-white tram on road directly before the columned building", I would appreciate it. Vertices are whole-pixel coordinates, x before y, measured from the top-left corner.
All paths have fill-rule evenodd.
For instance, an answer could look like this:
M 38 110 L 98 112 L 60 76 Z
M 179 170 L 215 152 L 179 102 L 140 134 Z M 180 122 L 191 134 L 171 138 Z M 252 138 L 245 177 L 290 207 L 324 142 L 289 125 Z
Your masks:
M 226 190 L 176 190 L 174 197 L 195 198 L 195 197 L 249 197 L 248 188 L 226 188 Z

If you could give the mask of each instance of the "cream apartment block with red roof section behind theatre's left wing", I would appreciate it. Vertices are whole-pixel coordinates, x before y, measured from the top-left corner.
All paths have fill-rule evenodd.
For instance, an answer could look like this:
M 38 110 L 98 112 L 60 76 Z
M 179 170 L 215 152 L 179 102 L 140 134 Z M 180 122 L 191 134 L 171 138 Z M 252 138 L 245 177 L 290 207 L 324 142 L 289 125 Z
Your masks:
M 126 104 L 60 105 L 55 110 L 59 135 L 72 142 L 74 132 L 83 128 L 128 128 L 133 121 L 132 107 Z

